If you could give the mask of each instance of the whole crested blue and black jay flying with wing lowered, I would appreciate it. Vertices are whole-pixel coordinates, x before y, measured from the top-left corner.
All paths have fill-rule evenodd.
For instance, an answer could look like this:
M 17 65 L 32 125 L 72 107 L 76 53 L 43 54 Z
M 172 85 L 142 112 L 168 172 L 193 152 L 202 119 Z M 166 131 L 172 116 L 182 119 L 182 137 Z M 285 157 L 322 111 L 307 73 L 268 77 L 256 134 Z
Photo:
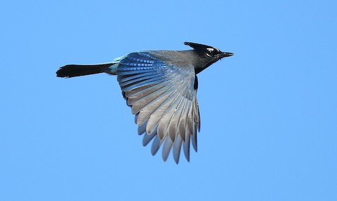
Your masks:
M 107 73 L 117 76 L 124 99 L 135 115 L 143 146 L 152 141 L 151 153 L 162 146 L 164 161 L 173 152 L 178 164 L 180 149 L 190 161 L 190 144 L 197 151 L 200 115 L 197 101 L 197 74 L 223 57 L 218 48 L 184 43 L 193 50 L 149 50 L 129 53 L 104 64 L 69 64 L 58 77 L 72 78 Z

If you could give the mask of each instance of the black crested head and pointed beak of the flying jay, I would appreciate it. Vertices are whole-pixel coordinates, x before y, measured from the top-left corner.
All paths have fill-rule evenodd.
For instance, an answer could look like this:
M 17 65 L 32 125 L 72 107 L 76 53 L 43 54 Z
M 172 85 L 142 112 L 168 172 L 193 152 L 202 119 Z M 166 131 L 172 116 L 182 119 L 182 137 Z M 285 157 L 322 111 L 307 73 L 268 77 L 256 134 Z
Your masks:
M 230 57 L 234 55 L 234 53 L 221 52 L 218 48 L 213 48 L 199 43 L 185 42 L 184 44 L 192 47 L 200 57 L 201 65 L 195 68 L 196 74 L 199 74 L 199 72 L 211 66 L 211 64 L 217 62 L 223 57 Z

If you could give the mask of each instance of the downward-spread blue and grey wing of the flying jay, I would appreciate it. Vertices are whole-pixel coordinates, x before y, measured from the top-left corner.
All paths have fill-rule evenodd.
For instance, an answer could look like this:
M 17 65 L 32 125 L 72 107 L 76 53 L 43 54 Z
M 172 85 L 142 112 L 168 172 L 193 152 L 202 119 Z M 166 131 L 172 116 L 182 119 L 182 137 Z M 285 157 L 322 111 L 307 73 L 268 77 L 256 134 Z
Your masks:
M 197 102 L 197 76 L 194 67 L 175 67 L 146 52 L 127 55 L 117 67 L 121 90 L 136 115 L 138 134 L 144 134 L 143 145 L 152 139 L 152 155 L 161 144 L 164 161 L 173 149 L 178 164 L 183 145 L 190 161 L 190 141 L 197 151 L 200 130 Z

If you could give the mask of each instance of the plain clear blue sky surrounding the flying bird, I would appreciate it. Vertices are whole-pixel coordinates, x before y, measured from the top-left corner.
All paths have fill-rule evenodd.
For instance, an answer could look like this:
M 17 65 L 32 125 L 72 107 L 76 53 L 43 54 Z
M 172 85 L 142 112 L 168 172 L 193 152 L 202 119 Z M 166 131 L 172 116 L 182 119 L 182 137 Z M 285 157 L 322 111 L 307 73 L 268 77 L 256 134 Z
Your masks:
M 1 2 L 0 200 L 337 200 L 336 8 Z M 114 76 L 55 76 L 184 41 L 235 53 L 199 74 L 191 162 L 142 146 Z

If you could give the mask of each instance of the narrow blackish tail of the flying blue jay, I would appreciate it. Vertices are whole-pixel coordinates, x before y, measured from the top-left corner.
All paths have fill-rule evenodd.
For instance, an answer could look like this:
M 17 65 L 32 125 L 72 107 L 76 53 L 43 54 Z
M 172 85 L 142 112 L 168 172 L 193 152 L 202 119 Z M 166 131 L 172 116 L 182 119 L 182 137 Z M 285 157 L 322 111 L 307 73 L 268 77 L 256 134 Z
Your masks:
M 60 78 L 71 78 L 76 76 L 86 76 L 91 74 L 109 73 L 109 67 L 113 63 L 108 64 L 94 64 L 94 65 L 76 65 L 70 64 L 60 67 L 56 71 L 56 76 Z

